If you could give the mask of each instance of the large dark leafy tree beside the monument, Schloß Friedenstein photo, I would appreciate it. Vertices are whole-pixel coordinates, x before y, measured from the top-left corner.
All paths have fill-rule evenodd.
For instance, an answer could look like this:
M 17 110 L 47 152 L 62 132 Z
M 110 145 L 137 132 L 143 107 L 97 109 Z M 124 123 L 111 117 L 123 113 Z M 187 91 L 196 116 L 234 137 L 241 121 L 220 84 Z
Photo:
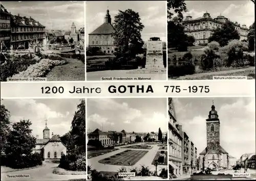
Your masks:
M 140 22 L 139 13 L 132 9 L 120 11 L 115 16 L 113 33 L 114 45 L 117 47 L 118 54 L 129 53 L 131 57 L 135 57 L 138 53 L 143 52 L 142 46 L 144 42 L 141 38 L 141 31 L 144 25 Z M 129 44 L 133 44 L 133 52 L 129 51 Z

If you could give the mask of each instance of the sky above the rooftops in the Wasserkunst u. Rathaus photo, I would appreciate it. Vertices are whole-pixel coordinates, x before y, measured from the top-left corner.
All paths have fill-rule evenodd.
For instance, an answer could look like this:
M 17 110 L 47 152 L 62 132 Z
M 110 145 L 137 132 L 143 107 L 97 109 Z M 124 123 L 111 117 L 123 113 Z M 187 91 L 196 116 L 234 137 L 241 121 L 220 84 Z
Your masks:
M 51 30 L 70 30 L 84 27 L 84 2 L 1 2 L 12 15 L 32 17 Z

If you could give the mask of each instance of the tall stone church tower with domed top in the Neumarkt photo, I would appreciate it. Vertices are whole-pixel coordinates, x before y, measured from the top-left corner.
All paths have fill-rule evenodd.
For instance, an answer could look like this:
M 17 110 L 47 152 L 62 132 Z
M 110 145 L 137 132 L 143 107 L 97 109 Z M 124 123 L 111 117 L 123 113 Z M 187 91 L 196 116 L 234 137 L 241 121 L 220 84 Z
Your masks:
M 220 119 L 214 104 L 206 119 L 207 150 L 220 151 Z

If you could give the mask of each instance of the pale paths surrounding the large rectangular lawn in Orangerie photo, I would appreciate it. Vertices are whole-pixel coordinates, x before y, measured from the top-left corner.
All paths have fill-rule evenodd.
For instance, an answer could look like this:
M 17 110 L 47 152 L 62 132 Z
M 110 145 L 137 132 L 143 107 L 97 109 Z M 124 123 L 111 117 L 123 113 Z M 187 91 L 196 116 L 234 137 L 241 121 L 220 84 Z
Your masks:
M 119 148 L 117 151 L 113 151 L 110 153 L 106 153 L 104 155 L 96 156 L 93 158 L 88 159 L 88 165 L 91 166 L 91 169 L 96 169 L 97 171 L 109 171 L 109 172 L 117 172 L 121 167 L 125 167 L 127 170 L 129 170 L 129 166 L 116 166 L 116 165 L 109 165 L 109 164 L 100 164 L 99 160 L 110 157 L 112 155 L 115 155 L 117 153 L 123 152 L 125 150 L 146 150 L 148 151 L 134 166 L 131 166 L 132 168 L 140 168 L 141 165 L 148 166 L 151 171 L 155 171 L 156 167 L 152 165 L 153 159 L 156 155 L 156 153 L 159 151 L 159 147 L 157 145 L 154 145 L 152 149 L 133 149 L 133 148 Z M 158 174 L 161 172 L 161 169 L 165 168 L 167 169 L 167 166 L 159 165 L 157 167 Z

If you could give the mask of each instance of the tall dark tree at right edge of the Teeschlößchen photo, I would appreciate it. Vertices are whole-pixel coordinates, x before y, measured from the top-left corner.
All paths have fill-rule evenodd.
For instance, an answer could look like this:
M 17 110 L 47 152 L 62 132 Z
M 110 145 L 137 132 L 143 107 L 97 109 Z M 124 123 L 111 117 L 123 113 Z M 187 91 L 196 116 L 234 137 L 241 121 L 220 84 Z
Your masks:
M 86 102 L 84 99 L 80 101 L 71 123 L 71 139 L 74 143 L 73 149 L 77 147 L 86 152 Z

